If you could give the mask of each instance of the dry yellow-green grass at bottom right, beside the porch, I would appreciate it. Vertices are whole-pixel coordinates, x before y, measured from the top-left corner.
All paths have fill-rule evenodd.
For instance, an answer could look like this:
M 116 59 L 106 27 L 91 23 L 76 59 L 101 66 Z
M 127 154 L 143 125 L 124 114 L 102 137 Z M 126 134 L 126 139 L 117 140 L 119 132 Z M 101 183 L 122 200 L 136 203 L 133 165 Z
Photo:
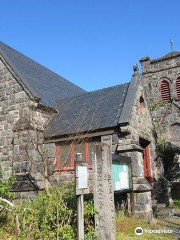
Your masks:
M 169 233 L 143 233 L 142 235 L 136 235 L 135 229 L 137 227 L 141 227 L 143 230 L 153 230 L 155 227 L 158 229 L 172 229 L 165 227 L 165 225 L 158 225 L 159 220 L 153 220 L 151 224 L 147 224 L 145 221 L 141 219 L 137 219 L 134 217 L 125 217 L 121 212 L 116 213 L 116 237 L 117 240 L 138 240 L 138 239 L 147 239 L 147 240 L 169 240 L 169 239 L 177 239 L 173 234 Z

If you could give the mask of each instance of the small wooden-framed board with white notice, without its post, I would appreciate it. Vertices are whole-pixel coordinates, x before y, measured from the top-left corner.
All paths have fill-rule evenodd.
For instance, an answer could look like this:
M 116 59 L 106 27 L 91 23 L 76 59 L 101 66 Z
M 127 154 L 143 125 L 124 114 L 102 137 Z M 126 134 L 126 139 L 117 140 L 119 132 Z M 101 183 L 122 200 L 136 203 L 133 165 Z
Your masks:
M 75 179 L 76 195 L 88 194 L 89 193 L 89 166 L 87 162 L 82 161 L 82 154 L 77 153 L 77 160 L 75 162 Z

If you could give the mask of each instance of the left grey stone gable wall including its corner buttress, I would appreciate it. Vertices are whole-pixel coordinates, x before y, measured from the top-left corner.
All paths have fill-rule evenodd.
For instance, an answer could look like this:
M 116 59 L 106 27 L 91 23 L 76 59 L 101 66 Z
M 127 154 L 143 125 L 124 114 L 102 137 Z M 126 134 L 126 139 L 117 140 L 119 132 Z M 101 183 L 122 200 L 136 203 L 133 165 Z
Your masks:
M 18 191 L 22 188 L 23 191 L 36 189 L 36 185 L 37 188 L 43 187 L 42 175 L 29 161 L 25 151 L 28 148 L 31 159 L 40 161 L 38 151 L 30 140 L 36 136 L 42 142 L 42 128 L 50 114 L 37 106 L 37 101 L 16 75 L 0 61 L 0 166 L 4 177 L 16 175 L 18 182 L 14 188 Z M 52 159 L 54 145 L 48 145 L 48 148 L 51 149 L 48 158 Z

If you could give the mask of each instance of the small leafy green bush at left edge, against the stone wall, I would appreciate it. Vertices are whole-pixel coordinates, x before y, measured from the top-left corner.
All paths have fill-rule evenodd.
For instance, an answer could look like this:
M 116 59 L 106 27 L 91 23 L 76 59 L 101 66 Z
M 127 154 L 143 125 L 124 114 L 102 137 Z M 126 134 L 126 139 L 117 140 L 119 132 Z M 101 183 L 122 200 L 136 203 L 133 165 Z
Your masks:
M 11 185 L 15 181 L 14 177 L 3 178 L 2 170 L 0 167 L 0 197 L 5 199 L 10 199 L 13 196 L 13 193 L 10 192 Z

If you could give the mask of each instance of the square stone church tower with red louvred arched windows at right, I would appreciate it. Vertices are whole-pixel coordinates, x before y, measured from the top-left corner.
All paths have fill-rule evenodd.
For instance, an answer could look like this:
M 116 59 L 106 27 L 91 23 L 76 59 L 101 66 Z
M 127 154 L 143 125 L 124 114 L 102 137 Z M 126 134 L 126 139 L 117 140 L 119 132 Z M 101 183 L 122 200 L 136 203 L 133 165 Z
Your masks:
M 180 51 L 172 51 L 160 58 L 140 59 L 142 86 L 152 113 L 158 143 L 165 151 L 165 169 L 171 172 L 171 180 L 180 179 Z M 173 176 L 173 177 L 172 177 Z

